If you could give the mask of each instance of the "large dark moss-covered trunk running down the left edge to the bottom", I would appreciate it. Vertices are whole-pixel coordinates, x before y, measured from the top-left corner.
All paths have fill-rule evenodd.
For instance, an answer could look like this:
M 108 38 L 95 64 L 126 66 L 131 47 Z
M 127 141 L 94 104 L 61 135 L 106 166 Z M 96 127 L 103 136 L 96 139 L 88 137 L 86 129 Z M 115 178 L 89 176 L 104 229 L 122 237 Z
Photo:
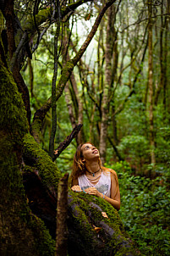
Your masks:
M 13 76 L 2 63 L 0 79 L 0 255 L 53 255 L 52 237 L 26 202 L 20 168 L 28 123 Z

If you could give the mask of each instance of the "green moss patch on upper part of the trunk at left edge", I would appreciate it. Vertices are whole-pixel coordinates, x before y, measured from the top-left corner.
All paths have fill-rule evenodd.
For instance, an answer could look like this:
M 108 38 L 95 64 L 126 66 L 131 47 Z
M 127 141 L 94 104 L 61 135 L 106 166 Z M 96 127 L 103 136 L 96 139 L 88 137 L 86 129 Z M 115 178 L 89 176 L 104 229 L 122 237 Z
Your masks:
M 13 131 L 14 142 L 19 143 L 28 132 L 25 106 L 18 92 L 12 74 L 0 65 L 1 90 L 0 90 L 0 128 Z

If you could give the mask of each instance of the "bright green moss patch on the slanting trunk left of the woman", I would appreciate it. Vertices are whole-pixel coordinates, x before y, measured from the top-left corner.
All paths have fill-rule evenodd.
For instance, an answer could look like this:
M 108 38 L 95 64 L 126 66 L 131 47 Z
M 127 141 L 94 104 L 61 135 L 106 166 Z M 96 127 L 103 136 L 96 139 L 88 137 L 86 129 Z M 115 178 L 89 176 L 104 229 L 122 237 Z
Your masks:
M 42 182 L 48 187 L 54 187 L 57 191 L 61 172 L 58 170 L 56 164 L 52 162 L 49 155 L 41 149 L 40 145 L 35 142 L 29 133 L 24 137 L 24 156 L 27 161 L 30 159 L 28 165 L 32 165 L 38 170 Z M 35 159 L 34 163 L 32 159 Z

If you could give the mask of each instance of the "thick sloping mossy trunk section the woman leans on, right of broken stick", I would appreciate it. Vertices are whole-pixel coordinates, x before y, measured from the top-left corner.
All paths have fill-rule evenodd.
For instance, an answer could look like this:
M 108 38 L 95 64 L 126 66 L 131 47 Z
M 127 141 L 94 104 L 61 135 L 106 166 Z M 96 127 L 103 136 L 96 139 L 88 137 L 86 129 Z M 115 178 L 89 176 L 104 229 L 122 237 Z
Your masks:
M 124 231 L 118 212 L 103 199 L 69 192 L 68 212 L 70 256 L 140 254 Z

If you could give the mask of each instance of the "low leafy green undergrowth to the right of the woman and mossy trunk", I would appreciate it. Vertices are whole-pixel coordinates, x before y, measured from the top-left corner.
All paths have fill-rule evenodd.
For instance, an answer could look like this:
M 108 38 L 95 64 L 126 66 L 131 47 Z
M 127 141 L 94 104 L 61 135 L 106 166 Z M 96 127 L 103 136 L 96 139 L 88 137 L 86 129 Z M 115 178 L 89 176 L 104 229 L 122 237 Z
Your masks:
M 169 255 L 170 170 L 151 180 L 133 175 L 125 162 L 111 167 L 118 173 L 122 203 L 119 214 L 125 230 L 143 255 Z

